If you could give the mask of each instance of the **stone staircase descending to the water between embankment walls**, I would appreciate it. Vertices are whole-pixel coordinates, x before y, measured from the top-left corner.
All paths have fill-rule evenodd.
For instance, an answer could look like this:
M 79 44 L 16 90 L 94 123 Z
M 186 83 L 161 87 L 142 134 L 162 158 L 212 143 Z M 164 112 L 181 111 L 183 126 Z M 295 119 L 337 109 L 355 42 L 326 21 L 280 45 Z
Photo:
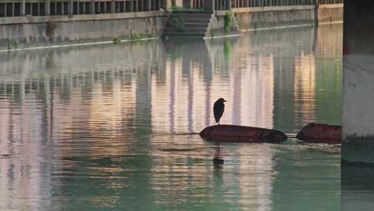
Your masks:
M 181 11 L 181 17 L 186 31 L 179 31 L 175 22 L 168 19 L 163 31 L 163 37 L 177 39 L 204 39 L 211 22 L 213 12 L 211 11 Z

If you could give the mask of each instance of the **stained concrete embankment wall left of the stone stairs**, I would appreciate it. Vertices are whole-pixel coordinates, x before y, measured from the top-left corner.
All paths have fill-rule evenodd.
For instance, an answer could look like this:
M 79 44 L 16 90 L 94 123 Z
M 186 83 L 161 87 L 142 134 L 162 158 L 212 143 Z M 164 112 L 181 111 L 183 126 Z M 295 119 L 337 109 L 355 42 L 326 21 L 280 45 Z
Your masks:
M 159 37 L 166 24 L 166 12 L 123 14 L 17 17 L 16 24 L 3 18 L 0 24 L 0 50 L 48 45 L 104 42 L 142 37 Z

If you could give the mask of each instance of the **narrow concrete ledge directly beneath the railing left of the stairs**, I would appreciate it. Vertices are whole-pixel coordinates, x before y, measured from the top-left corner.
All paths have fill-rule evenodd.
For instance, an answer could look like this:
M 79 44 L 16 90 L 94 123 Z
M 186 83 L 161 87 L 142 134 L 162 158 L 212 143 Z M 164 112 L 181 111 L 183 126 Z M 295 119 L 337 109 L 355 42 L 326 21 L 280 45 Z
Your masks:
M 168 15 L 168 12 L 166 11 L 149 11 L 149 12 L 124 12 L 124 13 L 71 15 L 71 16 L 50 15 L 50 16 L 1 17 L 0 25 L 133 19 L 133 18 L 141 18 L 141 17 L 163 17 L 167 15 Z

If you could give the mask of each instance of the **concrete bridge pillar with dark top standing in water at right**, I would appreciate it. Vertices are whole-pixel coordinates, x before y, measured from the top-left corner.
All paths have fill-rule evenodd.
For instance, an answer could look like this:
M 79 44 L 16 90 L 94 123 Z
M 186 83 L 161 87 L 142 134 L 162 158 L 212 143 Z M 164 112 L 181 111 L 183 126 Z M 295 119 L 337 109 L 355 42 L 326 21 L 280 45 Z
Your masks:
M 374 1 L 344 0 L 342 164 L 374 165 Z

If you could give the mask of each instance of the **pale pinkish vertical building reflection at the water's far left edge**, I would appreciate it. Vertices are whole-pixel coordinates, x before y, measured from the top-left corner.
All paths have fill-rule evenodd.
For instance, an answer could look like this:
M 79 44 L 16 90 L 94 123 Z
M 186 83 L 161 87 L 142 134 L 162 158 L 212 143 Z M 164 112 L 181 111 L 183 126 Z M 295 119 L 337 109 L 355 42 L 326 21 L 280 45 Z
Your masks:
M 0 94 L 0 154 L 5 155 L 0 157 L 0 210 L 15 207 L 38 210 L 37 206 L 42 208 L 51 204 L 51 193 L 48 192 L 52 183 L 51 167 L 46 162 L 37 162 L 51 159 L 51 154 L 46 153 L 48 142 L 42 137 L 46 132 L 44 105 L 26 99 L 19 92 L 23 87 L 19 84 L 4 86 L 8 89 L 1 90 Z M 12 87 L 16 89 L 12 90 Z M 28 96 L 35 97 L 35 94 Z

